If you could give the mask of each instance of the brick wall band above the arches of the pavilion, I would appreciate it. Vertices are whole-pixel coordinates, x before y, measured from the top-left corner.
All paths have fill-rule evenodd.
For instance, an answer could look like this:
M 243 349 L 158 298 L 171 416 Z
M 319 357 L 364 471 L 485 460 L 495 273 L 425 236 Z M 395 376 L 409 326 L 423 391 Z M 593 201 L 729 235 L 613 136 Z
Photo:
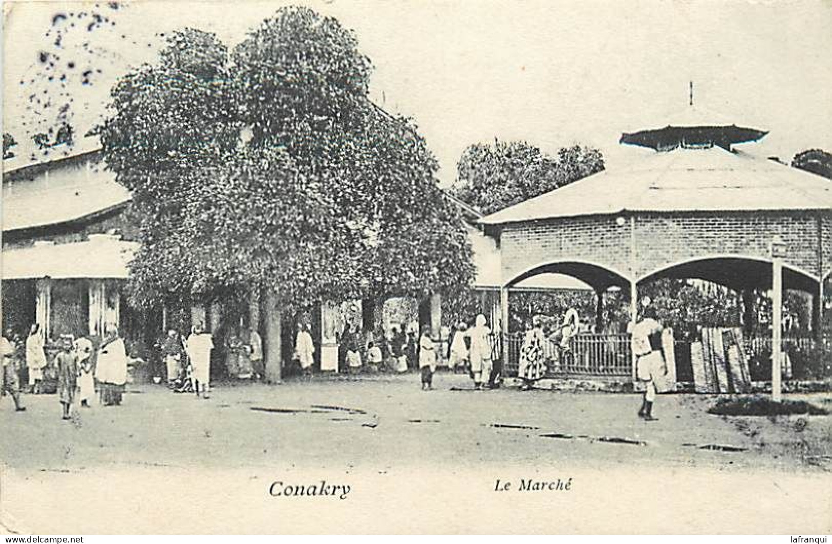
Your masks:
M 624 215 L 622 215 L 624 216 Z M 582 261 L 617 271 L 626 279 L 681 261 L 715 255 L 740 255 L 768 260 L 769 244 L 780 235 L 789 247 L 788 265 L 818 274 L 816 215 L 783 212 L 730 214 L 637 214 L 635 270 L 630 264 L 629 216 L 618 225 L 616 216 L 558 218 L 507 225 L 500 245 L 503 281 L 538 265 Z M 832 264 L 832 214 L 823 231 L 824 267 Z

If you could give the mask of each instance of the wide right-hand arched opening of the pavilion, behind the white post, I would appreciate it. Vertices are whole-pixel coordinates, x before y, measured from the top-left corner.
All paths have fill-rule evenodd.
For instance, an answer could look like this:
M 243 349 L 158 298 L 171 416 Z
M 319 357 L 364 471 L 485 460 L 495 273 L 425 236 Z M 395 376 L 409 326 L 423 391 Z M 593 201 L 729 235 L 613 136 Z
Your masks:
M 639 298 L 649 295 L 676 338 L 679 381 L 693 377 L 690 347 L 706 343 L 710 331 L 736 329 L 748 354 L 753 379 L 770 376 L 772 263 L 740 255 L 712 255 L 666 265 L 637 280 Z M 785 377 L 814 375 L 815 341 L 822 328 L 819 280 L 783 265 L 783 350 L 790 355 Z M 718 333 L 721 334 L 721 333 Z M 706 346 L 706 351 L 709 349 Z

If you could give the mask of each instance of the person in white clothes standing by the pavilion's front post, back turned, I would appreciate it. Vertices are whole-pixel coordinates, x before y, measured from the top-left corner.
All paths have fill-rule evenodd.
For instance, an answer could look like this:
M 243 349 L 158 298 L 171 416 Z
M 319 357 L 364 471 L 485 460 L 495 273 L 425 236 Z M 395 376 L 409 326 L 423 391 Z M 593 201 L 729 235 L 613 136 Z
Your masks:
M 636 378 L 646 386 L 638 417 L 656 421 L 658 418 L 653 417 L 656 379 L 666 374 L 666 368 L 661 355 L 661 324 L 656 321 L 656 310 L 651 307 L 644 309 L 641 321 L 632 327 L 631 348 L 636 355 Z

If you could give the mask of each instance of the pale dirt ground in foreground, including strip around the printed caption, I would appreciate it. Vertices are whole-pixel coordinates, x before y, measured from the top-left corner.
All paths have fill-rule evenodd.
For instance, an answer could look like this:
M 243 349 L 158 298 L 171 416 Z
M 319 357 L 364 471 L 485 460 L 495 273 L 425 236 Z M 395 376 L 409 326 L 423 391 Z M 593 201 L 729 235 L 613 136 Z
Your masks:
M 830 532 L 832 416 L 706 413 L 705 395 L 470 390 L 439 373 L 131 386 L 62 421 L 0 406 L 6 532 Z M 462 389 L 462 390 L 458 390 Z M 832 395 L 790 395 L 832 408 Z M 564 484 L 571 479 L 568 489 Z M 523 482 L 560 488 L 520 490 Z M 338 496 L 276 487 L 349 485 Z M 499 480 L 499 482 L 498 482 Z M 523 482 L 521 482 L 521 480 Z M 505 482 L 510 482 L 505 489 Z M 498 488 L 503 490 L 497 491 Z M 526 486 L 527 487 L 527 486 Z

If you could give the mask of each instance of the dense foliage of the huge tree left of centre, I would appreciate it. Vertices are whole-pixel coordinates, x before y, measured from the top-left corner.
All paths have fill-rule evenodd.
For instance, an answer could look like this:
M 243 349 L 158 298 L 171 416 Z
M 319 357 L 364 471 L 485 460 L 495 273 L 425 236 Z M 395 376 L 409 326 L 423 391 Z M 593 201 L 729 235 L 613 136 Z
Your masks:
M 288 7 L 231 52 L 168 37 L 113 89 L 106 161 L 133 194 L 138 303 L 276 289 L 288 306 L 470 283 L 470 248 L 417 127 L 367 97 L 369 60 Z

